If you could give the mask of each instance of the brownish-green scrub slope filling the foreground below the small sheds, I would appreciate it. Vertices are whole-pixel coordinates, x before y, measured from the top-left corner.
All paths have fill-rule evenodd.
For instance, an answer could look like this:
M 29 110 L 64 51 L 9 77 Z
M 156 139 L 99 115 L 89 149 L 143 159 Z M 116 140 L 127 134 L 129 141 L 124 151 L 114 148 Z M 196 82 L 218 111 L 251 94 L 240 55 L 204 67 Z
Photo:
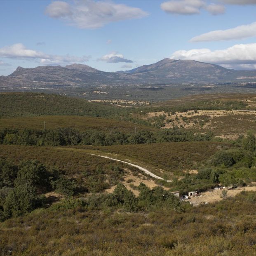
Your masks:
M 105 202 L 68 199 L 9 219 L 0 224 L 0 253 L 240 256 L 256 250 L 252 192 L 200 207 L 166 202 L 135 212 Z

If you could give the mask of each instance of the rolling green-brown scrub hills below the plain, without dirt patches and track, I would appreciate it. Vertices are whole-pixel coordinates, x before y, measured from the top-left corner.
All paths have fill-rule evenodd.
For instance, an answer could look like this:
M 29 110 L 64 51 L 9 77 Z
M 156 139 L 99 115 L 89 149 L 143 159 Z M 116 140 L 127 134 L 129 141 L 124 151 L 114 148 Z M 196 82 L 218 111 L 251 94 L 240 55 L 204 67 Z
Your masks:
M 0 106 L 0 116 L 10 124 L 0 124 L 0 255 L 255 255 L 256 193 L 234 198 L 223 194 L 220 202 L 198 207 L 171 193 L 256 182 L 254 131 L 223 140 L 211 132 L 158 129 L 163 116 L 155 118 L 155 127 L 143 120 L 148 111 L 251 108 L 243 99 L 171 101 L 126 109 L 25 93 L 0 94 Z M 33 124 L 40 115 L 55 115 L 66 124 L 78 122 L 73 115 L 82 119 L 76 128 L 56 122 L 43 129 Z M 17 116 L 28 117 L 27 123 L 21 118 L 15 127 L 17 119 L 11 117 Z M 95 127 L 83 124 L 89 120 L 86 116 Z M 124 186 L 124 177 L 146 175 L 87 153 L 154 167 L 172 182 L 158 180 L 153 188 L 133 185 L 135 196 Z

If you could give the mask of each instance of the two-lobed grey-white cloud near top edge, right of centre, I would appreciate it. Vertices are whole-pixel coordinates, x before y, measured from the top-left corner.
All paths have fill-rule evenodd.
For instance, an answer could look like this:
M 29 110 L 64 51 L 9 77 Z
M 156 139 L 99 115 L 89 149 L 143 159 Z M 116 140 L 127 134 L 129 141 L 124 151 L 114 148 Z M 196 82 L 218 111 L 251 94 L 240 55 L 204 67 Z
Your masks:
M 205 9 L 213 15 L 225 12 L 223 5 L 208 5 L 204 0 L 171 0 L 163 2 L 160 7 L 167 13 L 183 15 L 200 14 L 201 9 Z

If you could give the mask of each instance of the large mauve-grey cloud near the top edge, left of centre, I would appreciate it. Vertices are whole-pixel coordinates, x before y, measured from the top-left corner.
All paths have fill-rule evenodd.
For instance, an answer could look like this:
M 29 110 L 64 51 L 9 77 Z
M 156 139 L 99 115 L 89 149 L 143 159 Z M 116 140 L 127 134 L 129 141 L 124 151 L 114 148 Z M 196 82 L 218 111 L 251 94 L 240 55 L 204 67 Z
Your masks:
M 70 4 L 54 1 L 47 6 L 45 14 L 66 21 L 71 26 L 91 29 L 103 27 L 110 22 L 138 19 L 148 15 L 139 8 L 94 0 L 73 0 Z

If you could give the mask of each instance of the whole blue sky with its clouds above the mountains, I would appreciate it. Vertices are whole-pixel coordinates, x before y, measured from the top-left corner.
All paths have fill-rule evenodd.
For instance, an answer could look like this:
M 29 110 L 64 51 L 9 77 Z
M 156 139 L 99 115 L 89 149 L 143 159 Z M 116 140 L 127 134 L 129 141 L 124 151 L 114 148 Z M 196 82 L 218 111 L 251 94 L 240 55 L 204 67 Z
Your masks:
M 72 63 L 127 70 L 170 57 L 256 69 L 255 14 L 256 0 L 1 0 L 0 75 Z

